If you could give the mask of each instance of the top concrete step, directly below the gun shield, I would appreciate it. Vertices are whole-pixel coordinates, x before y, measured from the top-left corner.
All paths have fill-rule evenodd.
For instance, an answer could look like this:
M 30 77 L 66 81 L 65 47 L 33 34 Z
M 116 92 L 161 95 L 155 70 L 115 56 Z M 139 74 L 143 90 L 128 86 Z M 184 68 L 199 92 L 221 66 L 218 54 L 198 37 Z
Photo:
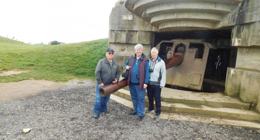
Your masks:
M 127 86 L 124 89 L 129 90 L 129 87 Z M 162 88 L 161 100 L 170 103 L 186 103 L 242 110 L 249 110 L 250 108 L 250 103 L 243 103 L 238 98 L 232 98 L 223 93 L 198 93 L 170 88 Z

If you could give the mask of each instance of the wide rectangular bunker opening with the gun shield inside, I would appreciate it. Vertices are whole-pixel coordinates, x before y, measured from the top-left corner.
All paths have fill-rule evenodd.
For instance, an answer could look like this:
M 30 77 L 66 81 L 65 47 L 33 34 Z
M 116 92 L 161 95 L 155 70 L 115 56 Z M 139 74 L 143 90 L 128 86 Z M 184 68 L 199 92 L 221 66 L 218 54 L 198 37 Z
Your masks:
M 163 60 L 183 55 L 181 64 L 166 70 L 166 87 L 224 92 L 227 68 L 236 66 L 237 48 L 230 46 L 231 36 L 232 29 L 154 33 L 154 47 Z

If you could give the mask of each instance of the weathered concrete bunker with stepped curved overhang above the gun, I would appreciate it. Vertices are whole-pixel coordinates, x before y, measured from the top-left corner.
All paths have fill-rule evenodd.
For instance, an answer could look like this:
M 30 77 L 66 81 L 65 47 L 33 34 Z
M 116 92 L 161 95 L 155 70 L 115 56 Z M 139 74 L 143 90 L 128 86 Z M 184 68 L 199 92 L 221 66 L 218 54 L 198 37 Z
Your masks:
M 150 49 L 162 40 L 191 39 L 213 44 L 217 49 L 209 50 L 207 60 L 214 60 L 218 54 L 225 60 L 221 72 L 224 94 L 257 104 L 256 109 L 260 111 L 259 6 L 258 0 L 121 0 L 110 13 L 109 47 L 116 51 L 114 58 L 123 69 L 137 43 L 143 44 L 147 57 Z M 166 48 L 159 55 L 167 57 L 167 49 L 174 44 L 162 45 Z M 184 45 L 185 53 L 192 48 Z M 205 48 L 205 45 L 204 50 L 194 48 L 203 54 L 194 54 L 193 59 L 201 59 L 201 56 L 204 59 Z M 208 73 L 208 64 L 205 64 L 203 75 Z M 203 81 L 213 75 L 214 72 L 209 78 L 203 76 Z M 205 92 L 212 90 L 210 86 L 209 90 L 205 87 L 202 85 Z

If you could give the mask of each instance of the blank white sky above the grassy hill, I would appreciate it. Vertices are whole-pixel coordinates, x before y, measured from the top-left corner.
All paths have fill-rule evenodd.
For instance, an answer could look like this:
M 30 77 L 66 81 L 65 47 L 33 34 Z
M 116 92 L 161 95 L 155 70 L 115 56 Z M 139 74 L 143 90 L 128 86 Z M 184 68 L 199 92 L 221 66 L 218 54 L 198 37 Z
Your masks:
M 1 0 L 0 36 L 24 43 L 107 38 L 118 0 Z

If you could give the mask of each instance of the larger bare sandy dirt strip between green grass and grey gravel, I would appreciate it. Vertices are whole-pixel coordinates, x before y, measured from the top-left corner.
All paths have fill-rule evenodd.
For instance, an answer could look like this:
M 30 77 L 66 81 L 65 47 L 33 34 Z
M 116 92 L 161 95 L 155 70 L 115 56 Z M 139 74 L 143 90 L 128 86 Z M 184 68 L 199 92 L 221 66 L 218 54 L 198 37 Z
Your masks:
M 46 80 L 24 80 L 20 82 L 0 83 L 0 102 L 9 102 L 11 100 L 34 96 L 45 90 L 67 89 L 91 83 L 95 82 L 91 80 L 79 81 L 74 79 L 67 83 Z

